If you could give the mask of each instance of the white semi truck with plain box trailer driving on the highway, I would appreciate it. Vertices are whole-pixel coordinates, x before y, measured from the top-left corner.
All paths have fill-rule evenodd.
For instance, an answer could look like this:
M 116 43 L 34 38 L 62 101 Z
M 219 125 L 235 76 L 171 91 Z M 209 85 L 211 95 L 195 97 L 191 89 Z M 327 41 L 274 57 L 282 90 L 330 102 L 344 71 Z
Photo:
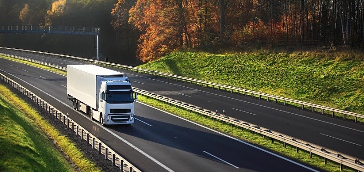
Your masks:
M 67 65 L 67 95 L 73 108 L 102 125 L 134 123 L 133 90 L 126 74 L 95 65 Z

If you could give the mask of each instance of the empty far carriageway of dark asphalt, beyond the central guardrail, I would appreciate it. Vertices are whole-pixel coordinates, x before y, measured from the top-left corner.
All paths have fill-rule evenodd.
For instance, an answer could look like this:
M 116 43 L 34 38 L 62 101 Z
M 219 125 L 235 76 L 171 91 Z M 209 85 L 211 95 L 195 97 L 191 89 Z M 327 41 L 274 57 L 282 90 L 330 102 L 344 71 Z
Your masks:
M 14 51 L 4 52 L 33 59 L 42 59 L 48 63 L 61 66 L 81 63 L 44 55 Z M 219 113 L 225 110 L 225 114 L 228 116 L 364 159 L 363 125 L 266 102 L 249 96 L 225 93 L 120 69 L 114 70 L 127 73 L 134 87 L 206 109 L 218 110 Z

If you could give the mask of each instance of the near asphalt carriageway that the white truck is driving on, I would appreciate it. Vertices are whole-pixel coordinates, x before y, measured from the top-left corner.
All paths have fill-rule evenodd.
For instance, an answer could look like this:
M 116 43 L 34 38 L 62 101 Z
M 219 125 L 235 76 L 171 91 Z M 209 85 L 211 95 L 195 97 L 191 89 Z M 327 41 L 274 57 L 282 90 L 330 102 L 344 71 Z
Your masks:
M 139 103 L 136 104 L 136 116 L 143 122 L 136 121 L 131 127 L 101 127 L 71 108 L 65 96 L 64 76 L 5 59 L 0 59 L 0 69 L 63 113 L 70 113 L 73 120 L 144 171 L 308 171 L 279 156 Z M 121 138 L 156 159 L 164 168 L 132 149 Z

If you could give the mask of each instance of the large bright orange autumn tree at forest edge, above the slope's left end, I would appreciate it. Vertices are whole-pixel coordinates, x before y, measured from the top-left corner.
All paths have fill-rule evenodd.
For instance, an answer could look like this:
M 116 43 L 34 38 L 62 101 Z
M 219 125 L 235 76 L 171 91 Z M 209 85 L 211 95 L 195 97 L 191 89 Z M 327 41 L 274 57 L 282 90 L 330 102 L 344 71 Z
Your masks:
M 186 3 L 183 0 L 138 0 L 130 23 L 143 33 L 138 45 L 143 61 L 157 59 L 182 47 L 191 47 Z

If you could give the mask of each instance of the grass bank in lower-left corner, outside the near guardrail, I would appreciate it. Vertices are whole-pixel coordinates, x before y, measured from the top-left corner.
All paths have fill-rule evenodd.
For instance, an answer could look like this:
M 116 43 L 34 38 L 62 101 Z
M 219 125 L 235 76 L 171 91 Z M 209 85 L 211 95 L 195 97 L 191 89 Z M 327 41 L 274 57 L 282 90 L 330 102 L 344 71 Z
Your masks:
M 36 110 L 0 85 L 0 171 L 73 171 L 47 136 L 83 172 L 100 169 Z

